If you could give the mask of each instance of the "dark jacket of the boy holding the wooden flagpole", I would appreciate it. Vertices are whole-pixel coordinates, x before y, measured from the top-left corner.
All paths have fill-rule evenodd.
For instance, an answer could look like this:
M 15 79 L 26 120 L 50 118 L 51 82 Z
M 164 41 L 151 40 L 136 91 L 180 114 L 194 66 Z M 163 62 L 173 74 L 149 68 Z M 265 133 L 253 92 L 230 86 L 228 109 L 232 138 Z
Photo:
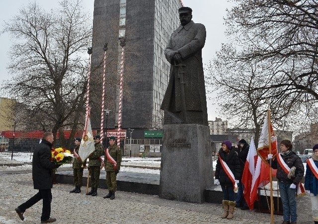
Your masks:
M 293 166 L 296 167 L 295 170 L 295 177 L 291 179 L 288 178 L 287 173 L 283 170 L 283 168 L 277 162 L 277 158 L 272 160 L 272 168 L 277 169 L 276 177 L 279 182 L 288 183 L 288 184 L 295 184 L 297 185 L 302 178 L 304 177 L 305 169 L 302 159 L 296 155 L 295 152 L 291 151 L 288 155 L 282 155 L 283 160 L 288 165 L 289 168 Z

